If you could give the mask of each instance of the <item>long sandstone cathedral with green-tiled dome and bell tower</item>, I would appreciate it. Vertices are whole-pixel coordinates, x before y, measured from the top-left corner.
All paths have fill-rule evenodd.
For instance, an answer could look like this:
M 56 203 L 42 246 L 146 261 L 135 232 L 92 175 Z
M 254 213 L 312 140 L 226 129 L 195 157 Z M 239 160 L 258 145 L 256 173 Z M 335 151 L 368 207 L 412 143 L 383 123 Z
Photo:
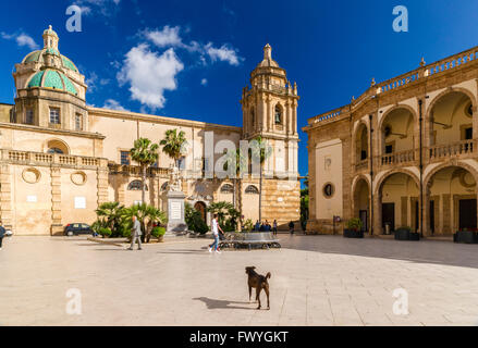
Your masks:
M 159 142 L 168 129 L 185 132 L 188 147 L 181 160 L 186 202 L 209 222 L 207 207 L 229 201 L 245 219 L 257 220 L 259 178 L 247 174 L 238 185 L 206 178 L 204 171 L 223 156 L 221 140 L 262 136 L 274 149 L 265 163 L 262 220 L 280 224 L 299 219 L 297 173 L 297 88 L 272 60 L 263 61 L 243 90 L 244 127 L 91 108 L 86 104 L 85 76 L 59 51 L 51 26 L 44 49 L 15 64 L 15 103 L 0 104 L 0 215 L 20 235 L 58 235 L 68 223 L 93 223 L 95 209 L 107 201 L 131 206 L 142 200 L 139 167 L 131 161 L 134 141 Z M 213 136 L 213 158 L 205 156 Z M 160 152 L 148 170 L 147 202 L 166 209 L 172 160 Z M 234 200 L 235 198 L 235 200 Z

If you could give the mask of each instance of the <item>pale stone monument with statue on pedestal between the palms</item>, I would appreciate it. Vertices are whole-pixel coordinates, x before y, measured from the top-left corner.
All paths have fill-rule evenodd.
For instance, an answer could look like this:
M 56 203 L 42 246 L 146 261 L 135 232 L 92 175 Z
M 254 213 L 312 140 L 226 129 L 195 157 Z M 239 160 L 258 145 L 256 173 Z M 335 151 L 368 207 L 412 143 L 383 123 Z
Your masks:
M 168 235 L 179 235 L 187 231 L 184 211 L 186 195 L 181 191 L 177 167 L 172 169 L 168 191 Z

